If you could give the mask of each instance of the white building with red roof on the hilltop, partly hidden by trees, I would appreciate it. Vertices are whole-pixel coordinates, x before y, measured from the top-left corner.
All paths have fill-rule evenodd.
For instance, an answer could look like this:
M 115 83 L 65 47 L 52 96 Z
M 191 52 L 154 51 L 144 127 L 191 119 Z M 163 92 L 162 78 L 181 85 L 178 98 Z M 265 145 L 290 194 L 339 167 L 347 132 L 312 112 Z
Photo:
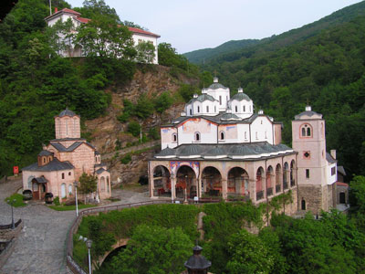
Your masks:
M 47 16 L 45 18 L 48 26 L 53 26 L 56 24 L 58 20 L 61 20 L 61 22 L 66 22 L 68 19 L 71 19 L 73 25 L 76 27 L 80 26 L 81 24 L 88 24 L 90 19 L 81 17 L 81 14 L 77 11 L 74 11 L 69 8 L 63 8 L 62 10 L 55 9 L 55 13 Z M 151 33 L 149 31 L 145 31 L 140 28 L 136 27 L 130 27 L 128 26 L 130 32 L 132 33 L 132 38 L 134 41 L 134 45 L 138 45 L 141 42 L 147 42 L 151 43 L 155 47 L 155 57 L 153 59 L 153 64 L 158 64 L 158 53 L 157 53 L 157 38 L 159 38 L 159 35 L 156 35 L 154 33 Z M 80 47 L 75 47 L 74 45 L 70 45 L 69 50 L 65 50 L 63 52 L 59 53 L 62 57 L 82 57 L 83 51 Z

